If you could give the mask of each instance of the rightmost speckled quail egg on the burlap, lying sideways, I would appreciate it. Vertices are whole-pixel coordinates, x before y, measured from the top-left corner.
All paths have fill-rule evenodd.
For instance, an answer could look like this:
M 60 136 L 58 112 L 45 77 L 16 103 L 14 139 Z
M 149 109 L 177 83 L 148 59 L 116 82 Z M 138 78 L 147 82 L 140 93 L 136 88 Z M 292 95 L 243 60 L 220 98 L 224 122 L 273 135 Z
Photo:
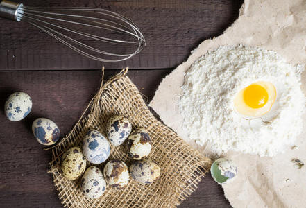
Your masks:
M 130 175 L 143 184 L 151 184 L 160 176 L 160 166 L 151 159 L 142 159 L 130 166 Z

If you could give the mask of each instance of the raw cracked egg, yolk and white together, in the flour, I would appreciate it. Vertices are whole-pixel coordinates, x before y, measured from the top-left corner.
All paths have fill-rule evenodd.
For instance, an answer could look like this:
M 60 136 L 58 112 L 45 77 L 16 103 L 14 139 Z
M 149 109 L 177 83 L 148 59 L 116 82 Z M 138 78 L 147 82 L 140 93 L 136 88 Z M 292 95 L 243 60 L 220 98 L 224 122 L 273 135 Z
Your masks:
M 234 98 L 234 107 L 239 114 L 259 117 L 271 110 L 275 99 L 275 86 L 262 81 L 241 89 Z

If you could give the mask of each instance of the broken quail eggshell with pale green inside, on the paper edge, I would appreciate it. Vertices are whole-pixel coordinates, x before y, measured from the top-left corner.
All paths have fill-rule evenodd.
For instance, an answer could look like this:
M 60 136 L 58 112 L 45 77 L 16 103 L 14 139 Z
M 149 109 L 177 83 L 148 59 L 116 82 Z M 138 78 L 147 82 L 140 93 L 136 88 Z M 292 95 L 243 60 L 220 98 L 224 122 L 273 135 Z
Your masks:
M 219 158 L 210 167 L 210 173 L 218 184 L 231 182 L 237 175 L 237 166 L 229 159 Z

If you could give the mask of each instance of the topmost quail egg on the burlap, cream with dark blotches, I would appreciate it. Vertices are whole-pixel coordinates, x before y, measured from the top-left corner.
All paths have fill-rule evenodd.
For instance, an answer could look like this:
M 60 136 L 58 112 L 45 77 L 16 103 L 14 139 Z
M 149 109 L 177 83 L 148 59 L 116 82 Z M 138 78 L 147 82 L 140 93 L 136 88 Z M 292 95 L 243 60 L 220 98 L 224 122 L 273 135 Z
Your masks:
M 132 125 L 124 116 L 114 115 L 108 119 L 106 124 L 108 139 L 114 146 L 123 144 L 131 130 Z

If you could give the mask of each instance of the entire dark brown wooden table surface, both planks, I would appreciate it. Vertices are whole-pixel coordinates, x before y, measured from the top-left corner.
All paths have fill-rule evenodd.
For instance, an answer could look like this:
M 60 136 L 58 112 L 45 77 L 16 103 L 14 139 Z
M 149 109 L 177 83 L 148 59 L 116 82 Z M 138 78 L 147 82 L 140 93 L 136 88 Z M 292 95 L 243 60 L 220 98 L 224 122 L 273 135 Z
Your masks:
M 242 1 L 38 1 L 31 6 L 93 6 L 133 19 L 147 46 L 131 60 L 106 63 L 105 78 L 129 66 L 128 76 L 140 92 L 153 98 L 164 76 L 187 59 L 207 38 L 220 35 L 238 17 Z M 37 117 L 55 121 L 63 137 L 82 114 L 101 80 L 101 63 L 87 60 L 26 23 L 0 19 L 0 205 L 61 207 L 46 173 L 51 151 L 43 150 L 31 132 Z M 144 70 L 146 69 L 146 70 Z M 10 122 L 3 113 L 6 98 L 30 94 L 33 110 Z M 230 207 L 223 190 L 207 175 L 179 207 Z

